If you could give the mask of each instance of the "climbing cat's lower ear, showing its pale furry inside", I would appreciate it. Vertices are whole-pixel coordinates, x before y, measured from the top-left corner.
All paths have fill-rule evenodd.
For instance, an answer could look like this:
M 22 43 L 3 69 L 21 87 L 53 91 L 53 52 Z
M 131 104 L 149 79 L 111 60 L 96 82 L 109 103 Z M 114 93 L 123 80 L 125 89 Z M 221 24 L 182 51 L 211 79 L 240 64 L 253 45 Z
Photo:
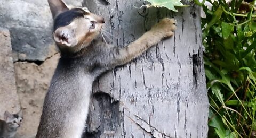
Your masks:
M 65 27 L 59 27 L 58 29 L 56 29 L 53 32 L 53 38 L 54 41 L 58 44 L 67 47 L 76 46 L 78 43 L 73 23 L 70 23 Z

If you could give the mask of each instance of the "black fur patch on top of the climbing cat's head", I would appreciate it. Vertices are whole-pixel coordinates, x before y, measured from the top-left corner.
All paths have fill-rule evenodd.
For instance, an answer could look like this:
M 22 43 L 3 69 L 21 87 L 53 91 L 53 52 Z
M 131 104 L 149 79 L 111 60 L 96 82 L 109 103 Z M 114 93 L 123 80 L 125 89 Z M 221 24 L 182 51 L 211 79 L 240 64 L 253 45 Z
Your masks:
M 53 31 L 59 27 L 64 27 L 70 24 L 76 18 L 82 18 L 84 15 L 89 14 L 81 8 L 73 8 L 69 11 L 63 12 L 54 20 Z

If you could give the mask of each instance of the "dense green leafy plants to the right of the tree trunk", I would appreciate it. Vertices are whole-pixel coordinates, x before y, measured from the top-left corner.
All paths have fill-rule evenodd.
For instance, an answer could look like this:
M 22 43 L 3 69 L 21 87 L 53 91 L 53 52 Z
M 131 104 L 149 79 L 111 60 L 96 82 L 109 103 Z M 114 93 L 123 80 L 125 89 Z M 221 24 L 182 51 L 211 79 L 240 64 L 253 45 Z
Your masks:
M 205 75 L 209 90 L 209 137 L 255 137 L 255 0 L 201 5 Z M 210 133 L 209 133 L 210 134 Z

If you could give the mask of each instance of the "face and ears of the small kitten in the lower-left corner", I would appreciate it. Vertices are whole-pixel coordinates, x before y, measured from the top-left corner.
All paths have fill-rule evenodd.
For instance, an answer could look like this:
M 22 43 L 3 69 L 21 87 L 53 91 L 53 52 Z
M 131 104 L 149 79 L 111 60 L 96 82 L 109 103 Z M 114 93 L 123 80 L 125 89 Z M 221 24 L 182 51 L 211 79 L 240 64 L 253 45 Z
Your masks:
M 17 114 L 10 114 L 8 111 L 4 113 L 4 120 L 10 128 L 20 127 L 22 119 L 22 110 Z

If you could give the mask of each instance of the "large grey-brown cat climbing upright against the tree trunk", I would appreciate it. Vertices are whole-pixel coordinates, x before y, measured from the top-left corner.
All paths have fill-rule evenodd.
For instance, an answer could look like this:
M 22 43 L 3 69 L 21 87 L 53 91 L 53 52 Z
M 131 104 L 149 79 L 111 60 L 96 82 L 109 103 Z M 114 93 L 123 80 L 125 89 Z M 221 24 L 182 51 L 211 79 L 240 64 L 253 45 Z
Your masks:
M 69 9 L 61 0 L 48 3 L 54 20 L 53 40 L 61 57 L 45 96 L 36 137 L 80 138 L 94 80 L 116 66 L 129 63 L 163 38 L 173 36 L 175 20 L 164 18 L 138 40 L 121 48 L 95 39 L 104 18 L 87 8 Z

